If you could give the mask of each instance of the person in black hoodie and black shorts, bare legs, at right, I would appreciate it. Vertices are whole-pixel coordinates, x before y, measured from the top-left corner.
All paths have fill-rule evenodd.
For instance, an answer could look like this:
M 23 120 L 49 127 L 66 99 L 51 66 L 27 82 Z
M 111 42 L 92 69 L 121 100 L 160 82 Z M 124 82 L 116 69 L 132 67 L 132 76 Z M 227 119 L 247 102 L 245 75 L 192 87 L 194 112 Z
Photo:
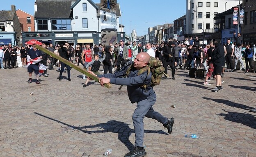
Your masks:
M 213 75 L 216 76 L 216 87 L 213 89 L 214 92 L 217 92 L 219 90 L 223 90 L 222 87 L 222 70 L 225 66 L 225 51 L 224 47 L 221 44 L 219 39 L 216 39 L 214 41 L 215 44 L 215 49 L 213 50 L 213 55 L 212 57 L 209 57 L 209 60 L 213 60 L 213 66 L 214 66 L 214 71 Z

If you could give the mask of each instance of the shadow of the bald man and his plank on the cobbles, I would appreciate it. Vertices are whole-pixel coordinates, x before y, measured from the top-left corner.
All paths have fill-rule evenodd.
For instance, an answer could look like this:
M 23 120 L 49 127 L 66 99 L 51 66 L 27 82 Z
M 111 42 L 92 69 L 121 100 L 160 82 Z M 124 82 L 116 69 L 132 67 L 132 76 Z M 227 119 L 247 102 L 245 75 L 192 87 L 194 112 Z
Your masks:
M 113 132 L 118 134 L 118 139 L 121 141 L 130 151 L 133 149 L 133 144 L 130 142 L 129 137 L 132 133 L 134 133 L 134 129 L 131 129 L 128 124 L 120 122 L 120 121 L 107 121 L 106 123 L 99 123 L 96 125 L 89 125 L 89 126 L 83 126 L 83 127 L 76 127 L 73 125 L 69 125 L 67 123 L 64 123 L 62 121 L 58 121 L 56 119 L 50 118 L 48 116 L 44 116 L 42 114 L 39 114 L 37 112 L 34 112 L 34 114 L 37 114 L 39 116 L 43 116 L 44 118 L 48 118 L 50 120 L 53 120 L 55 122 L 64 124 L 66 126 L 69 126 L 73 129 L 79 130 L 81 132 L 85 132 L 87 134 L 91 133 L 103 133 L 103 132 Z M 89 128 L 98 128 L 98 130 L 93 131 L 87 131 L 86 129 Z M 145 133 L 157 133 L 157 134 L 167 134 L 166 132 L 162 130 L 144 130 Z

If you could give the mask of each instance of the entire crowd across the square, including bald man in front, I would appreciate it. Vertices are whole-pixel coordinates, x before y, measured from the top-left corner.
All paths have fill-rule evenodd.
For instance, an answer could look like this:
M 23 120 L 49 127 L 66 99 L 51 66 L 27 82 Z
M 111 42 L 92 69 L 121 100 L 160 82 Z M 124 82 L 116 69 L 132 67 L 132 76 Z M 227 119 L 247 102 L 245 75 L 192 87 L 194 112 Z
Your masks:
M 234 34 L 235 36 L 235 34 Z M 153 118 L 168 130 L 171 134 L 174 125 L 174 118 L 167 118 L 153 109 L 156 101 L 156 95 L 151 86 L 152 71 L 142 71 L 147 68 L 151 57 L 155 57 L 161 61 L 162 66 L 165 68 L 164 77 L 162 80 L 168 78 L 168 67 L 171 69 L 172 79 L 175 80 L 175 71 L 185 70 L 191 68 L 201 67 L 205 70 L 206 77 L 203 82 L 204 85 L 210 85 L 210 77 L 216 80 L 216 87 L 214 92 L 223 90 L 222 77 L 224 72 L 237 71 L 238 61 L 245 73 L 255 73 L 252 66 L 252 60 L 256 57 L 256 47 L 254 43 L 243 46 L 239 38 L 240 34 L 235 37 L 235 42 L 230 39 L 223 45 L 219 39 L 210 41 L 209 44 L 201 46 L 198 37 L 195 39 L 185 39 L 183 44 L 178 43 L 174 39 L 162 43 L 146 43 L 141 45 L 136 42 L 124 43 L 120 40 L 119 43 L 113 45 L 94 45 L 90 46 L 85 44 L 80 46 L 69 45 L 65 42 L 64 45 L 53 46 L 50 43 L 48 46 L 43 43 L 42 47 L 59 55 L 67 61 L 81 64 L 83 68 L 87 69 L 91 75 L 99 77 L 99 82 L 103 86 L 106 83 L 126 85 L 128 96 L 131 103 L 137 103 L 136 109 L 133 114 L 133 125 L 135 128 L 135 148 L 133 151 L 128 152 L 125 157 L 143 157 L 146 155 L 143 147 L 144 138 L 144 117 Z M 243 53 L 244 52 L 244 53 Z M 245 58 L 245 64 L 243 64 Z M 235 63 L 233 60 L 235 59 Z M 2 64 L 5 61 L 5 66 Z M 62 74 L 67 71 L 67 80 L 71 81 L 71 67 L 64 62 L 55 59 L 53 56 L 38 50 L 35 45 L 31 47 L 2 46 L 0 49 L 1 69 L 26 67 L 29 73 L 28 83 L 32 83 L 32 73 L 34 72 L 37 77 L 37 84 L 39 80 L 39 67 L 40 64 L 44 67 L 48 66 L 48 70 L 57 68 L 59 72 L 59 81 L 61 81 Z M 74 62 L 75 61 L 75 62 Z M 17 65 L 16 65 L 17 63 Z M 103 75 L 99 73 L 100 66 L 103 64 Z M 224 68 L 226 65 L 226 69 Z M 66 68 L 66 69 L 65 69 Z M 114 68 L 116 70 L 114 71 Z M 47 68 L 46 68 L 47 69 Z M 130 73 L 127 73 L 127 71 Z M 48 77 L 47 70 L 42 73 L 44 77 Z M 83 76 L 86 79 L 86 76 Z M 87 80 L 83 87 L 86 87 L 91 78 Z M 251 109 L 256 112 L 256 109 Z

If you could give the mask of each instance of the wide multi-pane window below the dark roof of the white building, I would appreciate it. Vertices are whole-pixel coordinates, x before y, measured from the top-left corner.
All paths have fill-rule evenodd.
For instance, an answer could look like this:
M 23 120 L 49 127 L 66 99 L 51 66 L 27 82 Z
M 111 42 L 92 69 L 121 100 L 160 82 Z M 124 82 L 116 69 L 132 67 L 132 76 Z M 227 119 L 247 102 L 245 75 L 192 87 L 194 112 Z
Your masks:
M 71 30 L 70 19 L 53 19 L 52 20 L 53 30 Z

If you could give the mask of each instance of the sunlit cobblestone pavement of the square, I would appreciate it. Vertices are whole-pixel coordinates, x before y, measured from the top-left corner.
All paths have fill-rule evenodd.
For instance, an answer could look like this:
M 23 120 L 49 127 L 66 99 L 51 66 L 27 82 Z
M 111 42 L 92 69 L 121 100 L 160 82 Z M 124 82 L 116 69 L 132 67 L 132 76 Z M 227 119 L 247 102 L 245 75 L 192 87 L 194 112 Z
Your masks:
M 59 81 L 56 70 L 41 76 L 41 84 L 28 84 L 25 68 L 0 69 L 0 157 L 103 157 L 108 148 L 110 157 L 123 157 L 135 140 L 136 105 L 126 87 L 91 82 L 83 88 L 81 73 L 72 69 L 72 81 L 67 73 Z M 204 86 L 187 72 L 154 87 L 154 109 L 175 123 L 168 134 L 144 119 L 146 157 L 256 157 L 256 113 L 249 111 L 256 107 L 256 74 L 226 72 L 224 90 L 215 93 L 214 79 Z

